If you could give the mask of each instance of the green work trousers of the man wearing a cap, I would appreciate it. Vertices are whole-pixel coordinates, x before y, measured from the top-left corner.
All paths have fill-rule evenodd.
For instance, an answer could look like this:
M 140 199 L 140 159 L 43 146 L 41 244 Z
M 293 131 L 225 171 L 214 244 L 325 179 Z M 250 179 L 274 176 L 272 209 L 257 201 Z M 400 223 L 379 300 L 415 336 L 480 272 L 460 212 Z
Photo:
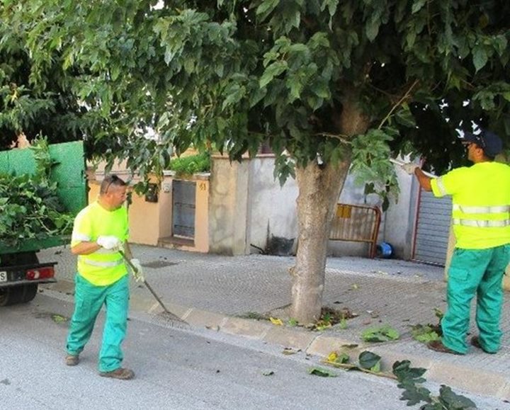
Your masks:
M 455 249 L 448 270 L 446 314 L 441 320 L 443 345 L 467 353 L 466 335 L 470 305 L 477 295 L 476 324 L 485 351 L 499 350 L 499 319 L 503 304 L 502 280 L 510 258 L 510 245 L 489 249 Z

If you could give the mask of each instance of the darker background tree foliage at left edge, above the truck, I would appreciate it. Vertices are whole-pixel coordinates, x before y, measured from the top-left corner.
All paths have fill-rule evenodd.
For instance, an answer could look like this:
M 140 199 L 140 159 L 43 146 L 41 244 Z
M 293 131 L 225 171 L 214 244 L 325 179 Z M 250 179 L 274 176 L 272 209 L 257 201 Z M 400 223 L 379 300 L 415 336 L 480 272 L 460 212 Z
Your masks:
M 3 6 L 0 6 L 3 7 Z M 9 21 L 0 21 L 0 149 L 9 147 L 26 133 L 32 139 L 50 135 L 68 141 L 82 135 L 79 101 L 67 90 L 67 73 L 57 61 L 44 78 L 33 76 L 33 62 L 26 45 L 26 33 L 11 30 Z

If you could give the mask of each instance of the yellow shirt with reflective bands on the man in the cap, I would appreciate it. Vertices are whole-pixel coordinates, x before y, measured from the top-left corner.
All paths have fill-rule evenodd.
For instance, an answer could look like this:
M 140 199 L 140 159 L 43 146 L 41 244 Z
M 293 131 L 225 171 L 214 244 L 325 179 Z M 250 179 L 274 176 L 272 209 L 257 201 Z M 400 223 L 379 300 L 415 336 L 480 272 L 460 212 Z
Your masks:
M 479 162 L 431 180 L 433 195 L 452 195 L 455 247 L 487 249 L 510 243 L 510 166 Z

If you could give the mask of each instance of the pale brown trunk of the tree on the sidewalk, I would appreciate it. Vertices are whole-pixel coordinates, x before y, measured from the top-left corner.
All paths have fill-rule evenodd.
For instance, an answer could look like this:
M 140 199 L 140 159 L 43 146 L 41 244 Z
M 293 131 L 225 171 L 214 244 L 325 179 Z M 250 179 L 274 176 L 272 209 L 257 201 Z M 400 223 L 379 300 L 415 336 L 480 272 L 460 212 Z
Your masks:
M 345 89 L 338 125 L 344 135 L 366 132 L 370 123 L 358 106 L 356 91 Z M 310 161 L 296 169 L 297 224 L 299 229 L 293 275 L 291 316 L 300 324 L 320 318 L 324 270 L 331 220 L 351 165 L 350 150 L 339 164 L 319 166 Z

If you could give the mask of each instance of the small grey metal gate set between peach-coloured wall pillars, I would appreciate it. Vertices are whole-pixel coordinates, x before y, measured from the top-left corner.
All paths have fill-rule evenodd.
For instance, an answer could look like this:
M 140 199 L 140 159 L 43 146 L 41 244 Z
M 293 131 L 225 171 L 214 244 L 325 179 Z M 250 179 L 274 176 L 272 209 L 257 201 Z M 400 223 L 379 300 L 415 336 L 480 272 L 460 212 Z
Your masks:
M 196 183 L 174 180 L 172 232 L 174 237 L 195 237 L 195 193 Z

